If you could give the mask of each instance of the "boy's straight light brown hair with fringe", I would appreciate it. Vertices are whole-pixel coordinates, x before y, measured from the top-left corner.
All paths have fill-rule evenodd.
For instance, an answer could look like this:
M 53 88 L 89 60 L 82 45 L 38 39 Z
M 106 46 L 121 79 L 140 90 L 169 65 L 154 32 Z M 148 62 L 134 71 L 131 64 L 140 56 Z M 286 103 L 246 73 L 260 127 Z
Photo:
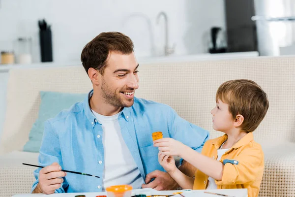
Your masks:
M 244 117 L 241 130 L 246 132 L 252 132 L 259 126 L 269 105 L 262 88 L 247 79 L 230 80 L 221 84 L 216 93 L 216 102 L 218 99 L 229 105 L 233 119 L 238 114 Z

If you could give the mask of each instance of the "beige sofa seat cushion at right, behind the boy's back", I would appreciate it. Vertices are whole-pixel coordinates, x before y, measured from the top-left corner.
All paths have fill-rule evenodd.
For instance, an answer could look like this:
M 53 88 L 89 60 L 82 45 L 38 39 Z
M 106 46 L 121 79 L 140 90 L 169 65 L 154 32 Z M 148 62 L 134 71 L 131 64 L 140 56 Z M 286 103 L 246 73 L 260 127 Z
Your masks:
M 295 143 L 265 142 L 261 146 L 265 154 L 265 169 L 259 197 L 294 197 Z

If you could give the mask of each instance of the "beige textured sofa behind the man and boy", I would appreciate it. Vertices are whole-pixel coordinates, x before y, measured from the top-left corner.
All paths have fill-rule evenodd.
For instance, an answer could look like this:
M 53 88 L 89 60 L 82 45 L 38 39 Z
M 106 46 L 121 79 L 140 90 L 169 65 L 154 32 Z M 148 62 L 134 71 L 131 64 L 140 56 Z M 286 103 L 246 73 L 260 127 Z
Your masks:
M 266 91 L 269 110 L 255 139 L 265 152 L 260 197 L 295 196 L 295 57 L 140 65 L 139 98 L 172 106 L 188 121 L 213 131 L 210 110 L 218 86 L 230 79 L 252 79 Z M 29 193 L 36 153 L 21 152 L 40 104 L 39 91 L 88 93 L 90 81 L 82 66 L 12 69 L 7 113 L 0 143 L 0 194 Z

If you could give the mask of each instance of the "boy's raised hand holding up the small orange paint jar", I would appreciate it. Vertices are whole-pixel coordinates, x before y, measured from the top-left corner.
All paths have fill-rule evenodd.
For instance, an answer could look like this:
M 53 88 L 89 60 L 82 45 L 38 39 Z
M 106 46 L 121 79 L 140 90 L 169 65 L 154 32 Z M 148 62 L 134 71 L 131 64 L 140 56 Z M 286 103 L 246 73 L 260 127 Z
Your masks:
M 180 141 L 173 138 L 161 138 L 154 141 L 154 146 L 159 147 L 159 151 L 164 155 L 179 156 L 185 147 Z

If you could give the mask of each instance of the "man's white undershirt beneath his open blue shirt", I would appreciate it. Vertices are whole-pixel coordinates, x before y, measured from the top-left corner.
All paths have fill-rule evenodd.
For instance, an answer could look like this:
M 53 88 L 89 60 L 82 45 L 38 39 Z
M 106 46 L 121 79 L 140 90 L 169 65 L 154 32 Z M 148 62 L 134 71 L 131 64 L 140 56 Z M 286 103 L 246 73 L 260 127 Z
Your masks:
M 91 111 L 103 129 L 105 164 L 102 191 L 112 185 L 131 185 L 133 189 L 140 189 L 144 180 L 122 137 L 119 113 L 103 116 Z

